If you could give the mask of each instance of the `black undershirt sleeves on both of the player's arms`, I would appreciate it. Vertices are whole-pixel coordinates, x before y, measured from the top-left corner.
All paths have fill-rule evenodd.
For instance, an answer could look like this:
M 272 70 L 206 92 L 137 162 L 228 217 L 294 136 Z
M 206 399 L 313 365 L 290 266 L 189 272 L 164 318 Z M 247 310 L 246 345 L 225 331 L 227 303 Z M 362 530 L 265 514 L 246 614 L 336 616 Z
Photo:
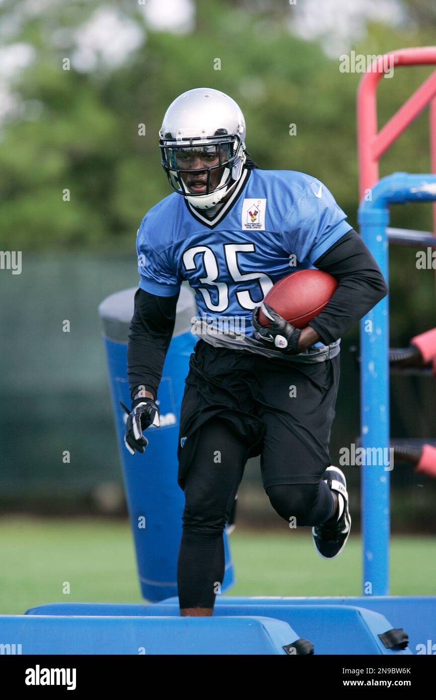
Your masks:
M 377 262 L 358 233 L 351 229 L 314 266 L 339 281 L 321 314 L 309 322 L 325 344 L 345 335 L 388 293 Z M 156 397 L 176 320 L 178 294 L 159 297 L 139 288 L 127 348 L 127 376 L 132 398 L 139 386 Z

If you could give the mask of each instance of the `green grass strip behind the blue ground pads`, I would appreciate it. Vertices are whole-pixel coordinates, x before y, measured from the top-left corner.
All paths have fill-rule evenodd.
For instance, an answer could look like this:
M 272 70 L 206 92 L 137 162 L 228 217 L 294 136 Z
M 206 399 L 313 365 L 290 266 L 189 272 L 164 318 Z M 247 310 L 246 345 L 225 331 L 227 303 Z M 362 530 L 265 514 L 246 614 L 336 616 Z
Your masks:
M 0 613 L 20 615 L 54 602 L 141 603 L 129 524 L 102 519 L 0 521 Z M 230 535 L 236 585 L 229 595 L 360 595 L 360 538 L 350 537 L 333 561 L 321 559 L 310 528 Z M 391 542 L 391 594 L 436 594 L 436 540 L 397 536 Z M 70 593 L 64 594 L 64 582 Z

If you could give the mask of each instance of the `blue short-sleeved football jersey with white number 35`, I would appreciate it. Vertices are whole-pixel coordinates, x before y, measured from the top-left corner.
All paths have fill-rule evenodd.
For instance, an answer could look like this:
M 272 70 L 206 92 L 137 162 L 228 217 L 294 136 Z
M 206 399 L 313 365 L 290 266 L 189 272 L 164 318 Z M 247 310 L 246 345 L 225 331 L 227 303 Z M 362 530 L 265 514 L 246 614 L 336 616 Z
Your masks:
M 293 170 L 246 169 L 212 219 L 171 193 L 138 230 L 139 286 L 172 296 L 187 281 L 198 314 L 192 332 L 214 345 L 284 356 L 252 336 L 251 314 L 272 286 L 314 261 L 351 228 L 325 185 Z M 197 325 L 197 330 L 195 324 Z M 320 361 L 339 352 L 316 343 L 293 361 Z

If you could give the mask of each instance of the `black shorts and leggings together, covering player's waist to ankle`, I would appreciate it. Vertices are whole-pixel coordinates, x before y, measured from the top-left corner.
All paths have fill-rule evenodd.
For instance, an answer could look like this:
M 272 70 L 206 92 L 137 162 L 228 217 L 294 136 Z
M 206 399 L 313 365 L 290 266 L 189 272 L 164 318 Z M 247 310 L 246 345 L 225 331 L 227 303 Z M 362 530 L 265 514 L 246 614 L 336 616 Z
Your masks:
M 339 356 L 295 367 L 197 342 L 178 446 L 178 483 L 185 493 L 177 566 L 181 608 L 213 608 L 224 577 L 223 531 L 249 457 L 260 454 L 265 491 L 283 519 L 313 526 L 332 515 L 334 501 L 322 475 L 331 463 L 339 366 Z

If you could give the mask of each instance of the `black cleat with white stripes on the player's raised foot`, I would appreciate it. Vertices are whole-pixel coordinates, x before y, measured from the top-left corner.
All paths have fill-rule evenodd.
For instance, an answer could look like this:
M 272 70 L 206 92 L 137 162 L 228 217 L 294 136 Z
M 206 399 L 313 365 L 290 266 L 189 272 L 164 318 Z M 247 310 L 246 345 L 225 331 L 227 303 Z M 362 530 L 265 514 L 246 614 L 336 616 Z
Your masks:
M 336 514 L 335 520 L 315 525 L 312 528 L 312 539 L 319 556 L 322 556 L 323 559 L 335 559 L 335 556 L 344 549 L 351 530 L 349 496 L 346 492 L 344 474 L 337 467 L 328 467 L 323 473 L 323 479 L 330 489 L 338 494 L 339 518 Z

